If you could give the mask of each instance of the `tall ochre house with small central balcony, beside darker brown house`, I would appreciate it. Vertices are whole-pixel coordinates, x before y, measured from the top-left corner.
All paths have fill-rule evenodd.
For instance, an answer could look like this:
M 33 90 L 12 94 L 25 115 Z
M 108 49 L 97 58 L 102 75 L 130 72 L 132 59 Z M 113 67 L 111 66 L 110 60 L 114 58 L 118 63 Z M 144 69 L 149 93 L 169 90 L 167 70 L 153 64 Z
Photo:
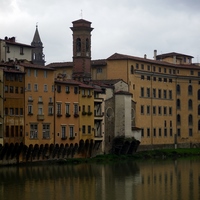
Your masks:
M 21 63 L 25 75 L 25 145 L 54 144 L 54 70 Z

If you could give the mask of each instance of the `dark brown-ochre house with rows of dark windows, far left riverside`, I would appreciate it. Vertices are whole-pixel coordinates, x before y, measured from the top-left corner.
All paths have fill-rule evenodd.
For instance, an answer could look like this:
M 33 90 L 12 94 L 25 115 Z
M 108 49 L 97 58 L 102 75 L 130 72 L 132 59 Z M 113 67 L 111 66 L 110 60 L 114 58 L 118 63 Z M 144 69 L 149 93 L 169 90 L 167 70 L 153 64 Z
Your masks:
M 3 142 L 24 142 L 24 73 L 16 66 L 6 65 L 3 94 Z

